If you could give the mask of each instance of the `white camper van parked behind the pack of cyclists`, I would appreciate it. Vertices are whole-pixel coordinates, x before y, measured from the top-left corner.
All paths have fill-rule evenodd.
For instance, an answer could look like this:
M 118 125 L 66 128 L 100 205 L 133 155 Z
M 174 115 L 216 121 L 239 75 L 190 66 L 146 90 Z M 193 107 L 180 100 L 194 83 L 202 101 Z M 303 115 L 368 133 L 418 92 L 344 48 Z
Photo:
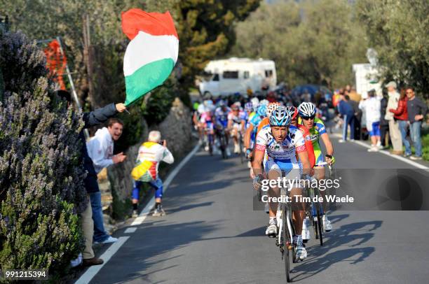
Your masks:
M 275 87 L 277 74 L 272 60 L 236 58 L 213 60 L 205 67 L 210 74 L 209 80 L 203 80 L 198 86 L 203 95 L 228 95 L 239 92 L 246 94 Z

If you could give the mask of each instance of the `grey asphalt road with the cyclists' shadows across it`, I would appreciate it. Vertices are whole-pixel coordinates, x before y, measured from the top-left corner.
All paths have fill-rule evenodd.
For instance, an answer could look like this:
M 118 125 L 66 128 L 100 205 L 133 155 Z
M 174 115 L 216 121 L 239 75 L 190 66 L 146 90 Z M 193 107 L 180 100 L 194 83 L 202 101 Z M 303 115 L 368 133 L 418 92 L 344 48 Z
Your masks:
M 361 145 L 336 143 L 343 168 L 412 168 Z M 268 217 L 252 210 L 240 159 L 198 152 L 170 184 L 168 215 L 147 218 L 91 283 L 285 283 Z M 297 283 L 428 283 L 428 211 L 336 211 L 325 246 L 307 244 Z M 125 236 L 124 229 L 115 236 Z

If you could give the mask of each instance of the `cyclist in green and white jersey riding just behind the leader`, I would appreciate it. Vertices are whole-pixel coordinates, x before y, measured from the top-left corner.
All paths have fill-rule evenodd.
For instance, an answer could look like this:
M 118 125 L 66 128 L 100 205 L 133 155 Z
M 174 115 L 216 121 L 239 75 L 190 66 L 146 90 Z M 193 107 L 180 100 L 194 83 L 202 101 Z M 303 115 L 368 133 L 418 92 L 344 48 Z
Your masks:
M 325 155 L 326 162 L 329 165 L 334 164 L 335 158 L 332 156 L 334 154 L 334 147 L 332 146 L 331 140 L 326 132 L 325 125 L 323 124 L 320 118 L 315 118 L 316 107 L 313 103 L 304 102 L 298 106 L 299 113 L 299 125 L 302 125 L 301 128 L 308 129 L 308 132 L 304 134 L 304 139 L 306 141 L 311 141 L 313 144 L 314 151 L 314 159 L 315 164 L 312 164 L 315 171 L 315 177 L 318 180 L 322 180 L 325 178 L 325 168 L 324 166 L 318 166 L 318 164 L 324 162 L 322 150 L 320 149 L 319 139 L 321 138 L 323 143 L 325 144 L 327 155 Z M 310 154 L 311 155 L 311 154 Z M 322 197 L 325 199 L 325 192 L 320 192 Z M 326 212 L 326 202 L 323 203 L 324 213 Z M 328 220 L 326 213 L 323 215 L 323 227 L 325 228 L 325 232 L 329 232 L 332 230 L 331 222 Z M 308 232 L 306 224 L 304 224 L 303 232 L 304 239 L 310 239 L 310 232 Z

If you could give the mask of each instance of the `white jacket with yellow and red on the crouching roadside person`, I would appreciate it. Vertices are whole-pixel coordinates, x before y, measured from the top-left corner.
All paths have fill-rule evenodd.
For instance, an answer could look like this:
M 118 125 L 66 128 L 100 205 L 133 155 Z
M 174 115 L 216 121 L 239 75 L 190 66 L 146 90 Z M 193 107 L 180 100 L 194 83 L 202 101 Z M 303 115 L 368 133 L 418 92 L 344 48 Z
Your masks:
M 156 142 L 144 142 L 139 148 L 139 154 L 137 155 L 136 162 L 155 162 L 156 163 L 156 176 L 158 176 L 159 162 L 163 161 L 167 164 L 175 162 L 170 150 L 165 148 L 163 145 Z

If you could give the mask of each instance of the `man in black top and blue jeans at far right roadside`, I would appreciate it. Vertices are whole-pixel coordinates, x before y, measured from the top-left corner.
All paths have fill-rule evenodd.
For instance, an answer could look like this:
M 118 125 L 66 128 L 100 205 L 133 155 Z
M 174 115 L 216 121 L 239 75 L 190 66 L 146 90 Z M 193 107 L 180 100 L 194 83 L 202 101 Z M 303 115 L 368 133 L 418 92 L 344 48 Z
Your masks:
M 425 118 L 426 113 L 428 112 L 428 106 L 426 106 L 423 101 L 416 97 L 413 87 L 407 87 L 406 94 L 408 97 L 407 101 L 407 111 L 408 111 L 408 120 L 410 123 L 410 134 L 411 140 L 413 141 L 414 148 L 416 153 L 414 156 L 411 156 L 410 159 L 422 159 L 421 152 L 421 122 Z

